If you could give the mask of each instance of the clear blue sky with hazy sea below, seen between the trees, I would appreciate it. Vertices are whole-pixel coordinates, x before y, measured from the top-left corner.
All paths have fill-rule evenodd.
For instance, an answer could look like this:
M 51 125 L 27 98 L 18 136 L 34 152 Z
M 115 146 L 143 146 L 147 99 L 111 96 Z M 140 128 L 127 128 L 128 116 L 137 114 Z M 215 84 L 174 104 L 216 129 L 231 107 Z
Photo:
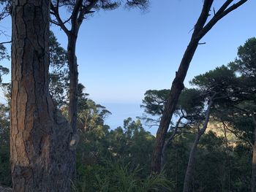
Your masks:
M 221 2 L 217 0 L 215 9 Z M 152 0 L 146 13 L 121 7 L 84 21 L 77 45 L 79 80 L 91 99 L 113 112 L 110 126 L 140 115 L 146 90 L 170 88 L 202 6 L 202 0 Z M 249 0 L 206 34 L 201 41 L 206 45 L 198 47 L 185 85 L 236 58 L 237 47 L 256 36 L 255 10 L 256 1 Z M 64 32 L 53 31 L 67 47 Z

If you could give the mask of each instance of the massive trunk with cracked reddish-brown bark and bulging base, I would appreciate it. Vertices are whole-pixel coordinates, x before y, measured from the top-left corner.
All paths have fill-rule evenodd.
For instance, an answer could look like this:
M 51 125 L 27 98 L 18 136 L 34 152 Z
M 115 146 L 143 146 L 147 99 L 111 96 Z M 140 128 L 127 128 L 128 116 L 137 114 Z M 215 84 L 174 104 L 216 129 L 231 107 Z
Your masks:
M 12 190 L 70 191 L 72 129 L 48 91 L 49 0 L 12 4 Z

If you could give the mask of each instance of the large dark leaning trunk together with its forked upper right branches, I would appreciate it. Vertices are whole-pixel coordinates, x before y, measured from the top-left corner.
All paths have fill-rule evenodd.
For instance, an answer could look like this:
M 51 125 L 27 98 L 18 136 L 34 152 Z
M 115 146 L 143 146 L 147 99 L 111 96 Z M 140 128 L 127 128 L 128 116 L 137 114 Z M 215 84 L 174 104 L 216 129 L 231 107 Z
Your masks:
M 191 40 L 189 42 L 187 50 L 184 53 L 181 64 L 178 67 L 178 71 L 176 72 L 176 77 L 173 80 L 172 86 L 170 88 L 170 95 L 167 98 L 165 110 L 160 120 L 159 128 L 157 130 L 157 138 L 154 145 L 154 152 L 152 155 L 151 171 L 154 173 L 159 173 L 161 170 L 162 147 L 165 143 L 166 133 L 170 125 L 170 120 L 173 117 L 173 112 L 176 108 L 178 97 L 180 96 L 181 91 L 184 88 L 183 82 L 186 77 L 187 70 L 189 69 L 189 64 L 192 61 L 193 55 L 195 54 L 195 50 L 197 49 L 200 39 L 202 39 L 219 20 L 225 17 L 225 15 L 240 7 L 247 0 L 238 1 L 236 4 L 233 4 L 230 7 L 228 6 L 232 3 L 232 0 L 225 1 L 222 7 L 220 7 L 217 12 L 214 12 L 213 18 L 211 18 L 211 20 L 206 23 L 208 16 L 210 16 L 209 12 L 213 1 L 214 0 L 205 0 L 203 2 L 203 9 L 200 13 L 200 17 L 195 24 Z

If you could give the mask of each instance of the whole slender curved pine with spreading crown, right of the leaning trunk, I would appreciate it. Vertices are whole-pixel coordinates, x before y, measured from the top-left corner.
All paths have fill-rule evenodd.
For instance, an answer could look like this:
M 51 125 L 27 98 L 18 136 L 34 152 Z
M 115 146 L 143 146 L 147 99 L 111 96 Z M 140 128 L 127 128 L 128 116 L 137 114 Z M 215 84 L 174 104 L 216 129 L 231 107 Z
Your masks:
M 211 110 L 219 107 L 219 103 L 230 101 L 236 98 L 236 75 L 226 66 L 217 67 L 214 70 L 200 74 L 192 80 L 192 85 L 196 85 L 201 93 L 203 93 L 206 106 L 205 117 L 197 122 L 197 134 L 190 150 L 187 172 L 184 180 L 184 192 L 191 188 L 193 166 L 195 164 L 195 153 L 197 145 L 202 135 L 206 132 L 208 121 L 210 120 Z

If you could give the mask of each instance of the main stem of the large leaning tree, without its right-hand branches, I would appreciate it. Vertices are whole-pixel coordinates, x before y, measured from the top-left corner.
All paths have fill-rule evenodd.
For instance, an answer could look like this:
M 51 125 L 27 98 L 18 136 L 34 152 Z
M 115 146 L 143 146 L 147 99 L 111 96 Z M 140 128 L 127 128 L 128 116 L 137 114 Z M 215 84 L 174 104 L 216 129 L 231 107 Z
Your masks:
M 159 173 L 161 171 L 162 148 L 165 144 L 166 133 L 170 125 L 170 120 L 173 117 L 173 112 L 176 109 L 178 97 L 180 96 L 181 91 L 184 89 L 183 82 L 186 77 L 187 70 L 189 69 L 189 64 L 192 61 L 193 55 L 195 54 L 198 42 L 202 38 L 202 36 L 199 37 L 198 34 L 200 34 L 200 31 L 206 23 L 208 12 L 211 9 L 212 3 L 213 0 L 209 0 L 205 1 L 203 4 L 203 9 L 195 25 L 195 30 L 192 34 L 189 45 L 187 46 L 187 50 L 183 55 L 181 64 L 178 67 L 178 72 L 176 72 L 176 77 L 173 80 L 172 87 L 170 88 L 170 95 L 167 98 L 165 110 L 160 120 L 159 128 L 157 130 L 157 138 L 154 145 L 154 152 L 152 155 L 151 171 L 154 173 Z

